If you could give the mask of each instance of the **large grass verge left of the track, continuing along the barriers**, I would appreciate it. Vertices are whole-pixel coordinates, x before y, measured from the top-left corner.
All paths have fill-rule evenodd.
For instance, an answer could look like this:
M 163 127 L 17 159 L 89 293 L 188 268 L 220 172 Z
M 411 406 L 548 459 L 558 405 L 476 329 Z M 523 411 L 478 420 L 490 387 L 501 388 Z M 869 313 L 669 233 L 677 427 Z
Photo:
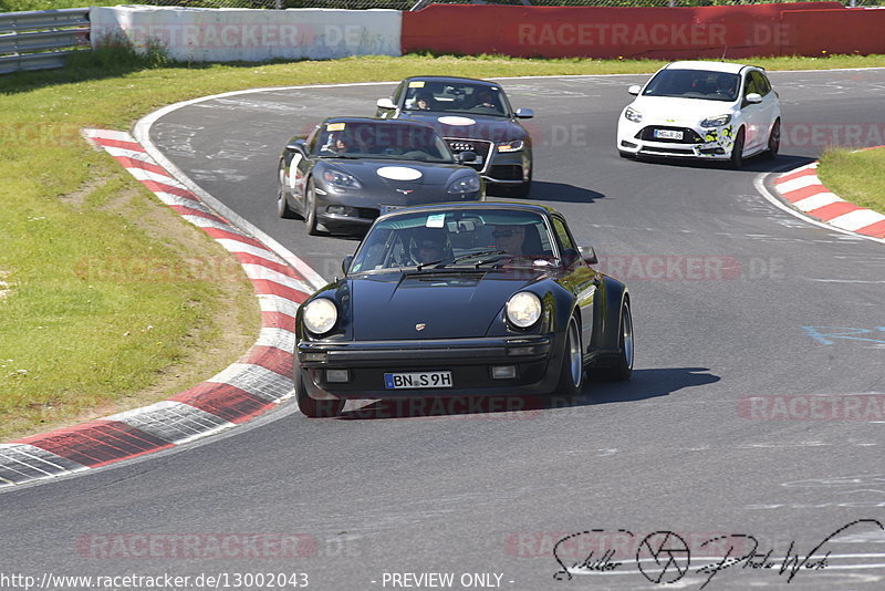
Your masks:
M 753 62 L 870 68 L 885 66 L 885 56 Z M 235 361 L 258 331 L 244 278 L 205 272 L 226 255 L 90 149 L 81 128 L 125 129 L 169 103 L 257 86 L 416 72 L 649 73 L 662 64 L 407 55 L 185 65 L 117 48 L 83 52 L 62 70 L 0 76 L 0 440 L 168 397 Z

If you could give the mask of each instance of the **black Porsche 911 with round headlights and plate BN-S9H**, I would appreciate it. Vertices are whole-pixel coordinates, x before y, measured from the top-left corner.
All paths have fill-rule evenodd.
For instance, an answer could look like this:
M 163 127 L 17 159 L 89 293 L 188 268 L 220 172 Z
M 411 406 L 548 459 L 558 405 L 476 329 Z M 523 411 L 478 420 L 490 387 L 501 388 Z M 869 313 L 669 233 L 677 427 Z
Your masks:
M 381 216 L 344 277 L 299 308 L 299 407 L 315 417 L 350 398 L 572 396 L 587 367 L 627 380 L 629 296 L 595 262 L 563 216 L 539 205 Z

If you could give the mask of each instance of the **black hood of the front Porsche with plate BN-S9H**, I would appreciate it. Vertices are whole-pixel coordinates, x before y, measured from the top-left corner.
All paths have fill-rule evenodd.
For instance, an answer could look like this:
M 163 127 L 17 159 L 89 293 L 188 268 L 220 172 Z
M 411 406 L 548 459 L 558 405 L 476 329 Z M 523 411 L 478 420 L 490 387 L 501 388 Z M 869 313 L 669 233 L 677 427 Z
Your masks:
M 351 280 L 354 339 L 485 336 L 507 300 L 542 273 L 392 273 Z M 424 324 L 423 330 L 416 325 Z

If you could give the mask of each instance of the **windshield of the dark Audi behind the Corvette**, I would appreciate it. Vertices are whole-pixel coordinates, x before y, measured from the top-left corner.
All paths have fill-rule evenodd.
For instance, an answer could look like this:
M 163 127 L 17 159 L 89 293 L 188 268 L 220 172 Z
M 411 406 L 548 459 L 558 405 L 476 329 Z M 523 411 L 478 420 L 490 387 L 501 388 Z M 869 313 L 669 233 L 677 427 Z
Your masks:
M 498 86 L 488 84 L 413 80 L 406 92 L 406 111 L 507 116 L 507 102 Z

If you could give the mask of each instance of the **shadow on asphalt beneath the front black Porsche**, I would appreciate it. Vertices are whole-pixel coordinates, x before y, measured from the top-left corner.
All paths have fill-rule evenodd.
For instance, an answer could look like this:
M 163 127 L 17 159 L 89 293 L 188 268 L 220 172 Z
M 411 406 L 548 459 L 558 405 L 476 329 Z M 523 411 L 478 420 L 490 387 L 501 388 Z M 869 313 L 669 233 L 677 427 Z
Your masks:
M 595 382 L 584 385 L 574 398 L 559 396 L 451 396 L 437 398 L 397 398 L 375 401 L 347 409 L 340 421 L 383 418 L 510 418 L 531 419 L 544 411 L 643 401 L 667 396 L 686 387 L 718 382 L 707 367 L 635 370 L 628 382 Z M 353 403 L 351 403 L 353 404 Z

